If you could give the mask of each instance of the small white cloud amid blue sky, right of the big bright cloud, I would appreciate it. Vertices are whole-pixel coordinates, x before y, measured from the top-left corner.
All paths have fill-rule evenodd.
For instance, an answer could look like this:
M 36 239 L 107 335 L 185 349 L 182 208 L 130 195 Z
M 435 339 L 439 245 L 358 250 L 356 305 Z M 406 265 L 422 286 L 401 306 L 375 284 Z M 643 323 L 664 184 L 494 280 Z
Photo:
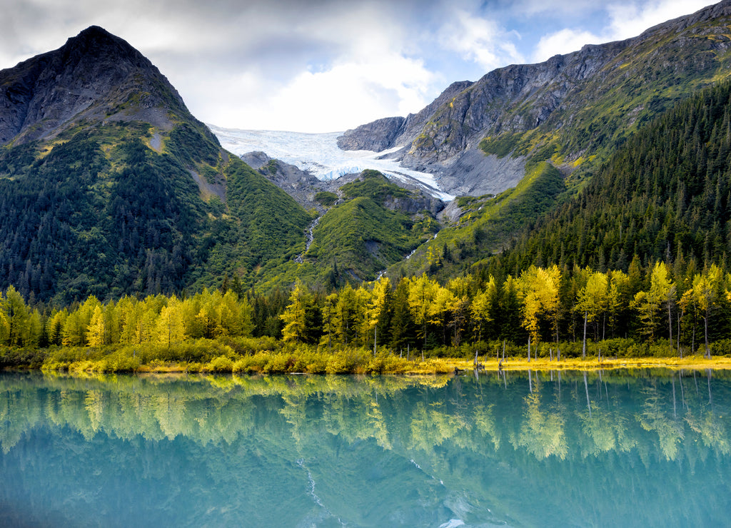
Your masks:
M 439 31 L 439 41 L 445 49 L 480 64 L 485 71 L 523 62 L 513 42 L 519 38 L 517 33 L 505 31 L 495 21 L 463 10 L 455 12 L 453 20 Z

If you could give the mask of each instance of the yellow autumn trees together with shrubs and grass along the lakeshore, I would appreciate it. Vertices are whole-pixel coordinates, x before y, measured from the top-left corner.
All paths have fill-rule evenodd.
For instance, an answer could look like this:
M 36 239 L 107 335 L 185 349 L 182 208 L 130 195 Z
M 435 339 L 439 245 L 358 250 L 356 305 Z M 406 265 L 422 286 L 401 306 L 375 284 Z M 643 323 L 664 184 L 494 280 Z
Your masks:
M 731 356 L 731 273 L 694 262 L 629 273 L 531 266 L 441 284 L 387 277 L 336 291 L 124 296 L 49 308 L 14 287 L 0 298 L 0 366 L 140 372 L 406 373 L 558 368 L 609 359 Z M 541 360 L 541 361 L 537 361 Z M 683 363 L 678 363 L 683 365 Z M 556 365 L 556 367 L 554 367 Z

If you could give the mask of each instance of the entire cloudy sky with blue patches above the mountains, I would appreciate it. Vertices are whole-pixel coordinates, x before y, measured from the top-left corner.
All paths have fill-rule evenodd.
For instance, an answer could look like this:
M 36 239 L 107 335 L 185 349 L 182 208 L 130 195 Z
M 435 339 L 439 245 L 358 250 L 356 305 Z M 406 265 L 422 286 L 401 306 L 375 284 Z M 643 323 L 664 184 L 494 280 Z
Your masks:
M 0 69 L 91 25 L 159 67 L 206 123 L 342 131 L 457 80 L 544 61 L 708 0 L 0 0 Z

